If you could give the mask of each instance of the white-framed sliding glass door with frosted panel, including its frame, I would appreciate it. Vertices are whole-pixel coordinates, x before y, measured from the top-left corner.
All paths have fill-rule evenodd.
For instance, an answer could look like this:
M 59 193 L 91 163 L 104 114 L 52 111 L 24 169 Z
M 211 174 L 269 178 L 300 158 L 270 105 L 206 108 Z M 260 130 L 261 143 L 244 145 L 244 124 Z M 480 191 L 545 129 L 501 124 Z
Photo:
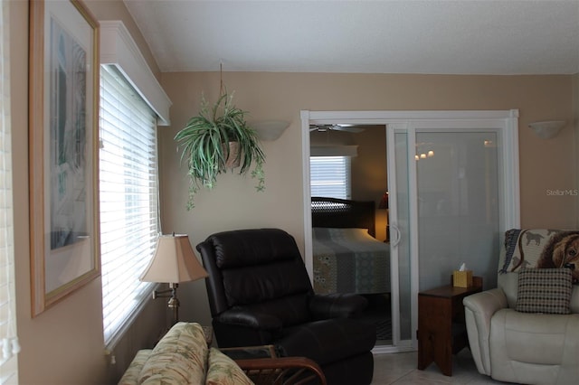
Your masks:
M 392 346 L 416 348 L 418 292 L 462 263 L 496 286 L 498 245 L 520 226 L 518 111 L 302 111 L 305 262 L 311 271 L 310 122 L 385 125 Z

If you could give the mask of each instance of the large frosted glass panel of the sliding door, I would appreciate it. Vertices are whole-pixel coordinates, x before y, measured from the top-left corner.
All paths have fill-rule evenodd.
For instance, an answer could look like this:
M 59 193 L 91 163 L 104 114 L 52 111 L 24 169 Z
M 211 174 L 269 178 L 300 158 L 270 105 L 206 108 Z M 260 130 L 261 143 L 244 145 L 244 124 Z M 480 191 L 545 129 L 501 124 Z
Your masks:
M 419 289 L 448 285 L 463 263 L 489 286 L 500 234 L 496 130 L 416 132 Z

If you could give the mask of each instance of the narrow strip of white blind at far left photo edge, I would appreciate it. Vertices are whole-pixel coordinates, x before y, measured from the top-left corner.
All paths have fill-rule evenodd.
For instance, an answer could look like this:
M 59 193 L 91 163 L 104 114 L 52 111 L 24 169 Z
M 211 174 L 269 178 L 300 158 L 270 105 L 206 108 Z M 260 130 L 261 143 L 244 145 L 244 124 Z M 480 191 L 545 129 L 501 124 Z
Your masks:
M 18 383 L 8 5 L 0 4 L 0 384 Z

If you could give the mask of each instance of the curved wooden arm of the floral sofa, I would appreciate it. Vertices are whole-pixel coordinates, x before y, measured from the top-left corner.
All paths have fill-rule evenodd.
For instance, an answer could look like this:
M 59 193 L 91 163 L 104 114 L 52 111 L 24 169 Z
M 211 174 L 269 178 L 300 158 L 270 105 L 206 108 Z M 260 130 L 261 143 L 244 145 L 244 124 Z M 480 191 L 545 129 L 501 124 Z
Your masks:
M 235 363 L 256 385 L 301 385 L 312 380 L 326 385 L 318 363 L 306 357 L 243 359 Z

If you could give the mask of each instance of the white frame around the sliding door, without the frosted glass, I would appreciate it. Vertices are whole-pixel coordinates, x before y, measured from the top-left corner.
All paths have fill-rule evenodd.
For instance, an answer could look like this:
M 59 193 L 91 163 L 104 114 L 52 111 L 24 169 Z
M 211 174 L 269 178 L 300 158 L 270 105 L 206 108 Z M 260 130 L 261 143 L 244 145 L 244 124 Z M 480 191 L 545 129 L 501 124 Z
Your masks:
M 476 121 L 478 127 L 496 128 L 500 143 L 500 157 L 502 174 L 500 175 L 501 205 L 500 205 L 500 226 L 502 232 L 510 228 L 520 227 L 520 203 L 519 203 L 519 171 L 518 171 L 518 110 L 445 110 L 445 111 L 310 111 L 301 110 L 302 127 L 302 172 L 303 172 L 303 214 L 304 214 L 304 262 L 308 270 L 310 279 L 313 277 L 313 256 L 312 256 L 312 226 L 310 209 L 310 184 L 309 184 L 309 125 L 310 124 L 352 124 L 352 125 L 383 125 L 386 127 L 386 136 L 394 138 L 394 127 L 397 130 L 403 129 L 408 133 L 407 152 L 409 164 L 414 157 L 414 143 L 416 127 L 420 130 L 440 129 L 441 122 L 452 122 L 452 126 L 464 126 L 464 130 L 475 129 L 472 121 Z M 462 129 L 462 128 L 461 128 Z M 384 144 L 386 146 L 386 144 Z M 388 154 L 388 159 L 391 155 Z M 390 162 L 389 162 L 390 163 Z M 388 179 L 391 181 L 391 172 L 394 171 L 394 164 L 388 164 Z M 394 175 L 394 174 L 393 174 Z M 409 167 L 409 202 L 410 202 L 410 240 L 411 247 L 411 312 L 412 329 L 416 330 L 418 325 L 418 215 L 416 210 L 416 171 L 415 167 Z M 394 186 L 392 186 L 394 187 Z M 392 188 L 389 187 L 389 188 Z M 394 194 L 390 194 L 391 199 Z M 393 205 L 396 202 L 392 202 Z M 394 212 L 393 223 L 397 223 Z M 396 248 L 394 248 L 396 249 Z M 394 250 L 394 253 L 396 251 Z M 393 255 L 395 258 L 395 255 Z M 395 263 L 395 262 L 394 262 Z M 397 271 L 397 270 L 396 270 Z M 398 280 L 396 279 L 395 282 Z M 394 281 L 393 281 L 394 283 Z M 394 285 L 393 285 L 394 286 Z M 393 289 L 393 297 L 398 296 L 399 287 Z M 398 314 L 399 304 L 393 301 L 392 314 Z M 393 324 L 394 324 L 393 320 Z M 394 335 L 398 333 L 398 335 Z M 400 325 L 393 325 L 393 346 L 377 346 L 374 352 L 403 352 L 414 350 L 417 347 L 415 333 L 412 334 L 412 341 L 400 341 Z

